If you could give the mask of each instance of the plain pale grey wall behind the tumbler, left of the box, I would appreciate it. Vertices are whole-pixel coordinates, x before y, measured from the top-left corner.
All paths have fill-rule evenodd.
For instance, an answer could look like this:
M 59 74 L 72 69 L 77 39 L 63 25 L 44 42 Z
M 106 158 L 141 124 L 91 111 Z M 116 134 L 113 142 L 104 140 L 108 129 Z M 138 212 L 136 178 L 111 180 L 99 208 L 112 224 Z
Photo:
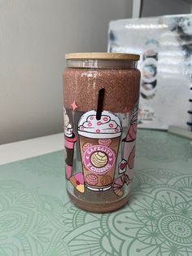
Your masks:
M 0 143 L 63 130 L 64 55 L 107 51 L 131 0 L 0 0 Z

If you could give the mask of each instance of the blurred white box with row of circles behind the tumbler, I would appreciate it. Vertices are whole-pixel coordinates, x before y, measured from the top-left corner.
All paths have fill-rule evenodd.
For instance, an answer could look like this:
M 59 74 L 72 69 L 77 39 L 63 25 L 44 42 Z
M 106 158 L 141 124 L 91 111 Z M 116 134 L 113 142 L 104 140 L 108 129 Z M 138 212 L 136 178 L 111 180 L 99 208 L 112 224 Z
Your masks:
M 138 126 L 192 127 L 192 15 L 114 20 L 108 51 L 141 55 Z

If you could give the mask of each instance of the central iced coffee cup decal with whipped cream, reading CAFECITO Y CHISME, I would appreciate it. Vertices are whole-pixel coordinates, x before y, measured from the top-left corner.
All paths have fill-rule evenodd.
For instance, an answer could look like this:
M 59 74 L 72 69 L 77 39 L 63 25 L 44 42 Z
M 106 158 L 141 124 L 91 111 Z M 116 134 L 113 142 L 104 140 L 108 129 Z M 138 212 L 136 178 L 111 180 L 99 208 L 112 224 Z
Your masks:
M 104 191 L 111 188 L 116 171 L 116 157 L 120 145 L 122 126 L 116 114 L 103 111 L 85 113 L 78 123 L 81 160 L 85 186 L 90 190 Z

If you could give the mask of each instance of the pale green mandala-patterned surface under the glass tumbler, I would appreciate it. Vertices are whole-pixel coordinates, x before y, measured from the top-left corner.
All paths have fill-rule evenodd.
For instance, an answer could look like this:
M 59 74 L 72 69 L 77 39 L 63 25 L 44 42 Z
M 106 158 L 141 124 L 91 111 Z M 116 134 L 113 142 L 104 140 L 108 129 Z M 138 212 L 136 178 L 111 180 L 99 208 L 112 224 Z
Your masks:
M 129 204 L 111 214 L 68 200 L 63 151 L 0 166 L 0 255 L 192 255 L 192 144 L 139 130 Z

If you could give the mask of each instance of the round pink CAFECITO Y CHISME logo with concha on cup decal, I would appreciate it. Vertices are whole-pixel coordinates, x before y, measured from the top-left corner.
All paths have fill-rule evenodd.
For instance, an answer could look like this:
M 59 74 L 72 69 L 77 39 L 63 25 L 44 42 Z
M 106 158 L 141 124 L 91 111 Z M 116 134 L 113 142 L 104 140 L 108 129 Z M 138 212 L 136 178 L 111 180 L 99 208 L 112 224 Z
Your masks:
M 94 174 L 106 174 L 115 163 L 114 152 L 103 145 L 94 145 L 84 153 L 84 164 Z

